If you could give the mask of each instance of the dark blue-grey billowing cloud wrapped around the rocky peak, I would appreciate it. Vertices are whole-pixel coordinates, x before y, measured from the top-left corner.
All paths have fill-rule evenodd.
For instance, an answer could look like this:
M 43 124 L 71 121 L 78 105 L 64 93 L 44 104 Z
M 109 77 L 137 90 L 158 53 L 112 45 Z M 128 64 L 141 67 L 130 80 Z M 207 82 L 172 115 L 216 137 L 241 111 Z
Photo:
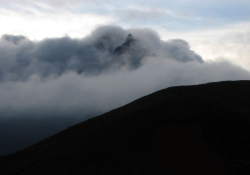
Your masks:
M 33 42 L 24 36 L 3 35 L 0 51 L 0 81 L 28 81 L 34 74 L 58 77 L 67 71 L 97 75 L 122 66 L 134 69 L 151 55 L 203 62 L 184 40 L 163 42 L 148 29 L 126 31 L 112 26 L 100 27 L 83 39 L 63 37 Z

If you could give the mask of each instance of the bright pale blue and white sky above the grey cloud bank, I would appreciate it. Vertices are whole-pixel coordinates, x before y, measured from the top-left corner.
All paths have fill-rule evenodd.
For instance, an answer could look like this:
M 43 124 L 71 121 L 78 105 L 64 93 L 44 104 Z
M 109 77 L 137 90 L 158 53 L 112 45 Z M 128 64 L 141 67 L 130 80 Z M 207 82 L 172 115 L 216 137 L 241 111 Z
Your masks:
M 82 38 L 106 24 L 151 28 L 164 40 L 187 40 L 204 60 L 250 70 L 249 0 L 0 0 L 0 16 L 0 35 L 32 40 Z

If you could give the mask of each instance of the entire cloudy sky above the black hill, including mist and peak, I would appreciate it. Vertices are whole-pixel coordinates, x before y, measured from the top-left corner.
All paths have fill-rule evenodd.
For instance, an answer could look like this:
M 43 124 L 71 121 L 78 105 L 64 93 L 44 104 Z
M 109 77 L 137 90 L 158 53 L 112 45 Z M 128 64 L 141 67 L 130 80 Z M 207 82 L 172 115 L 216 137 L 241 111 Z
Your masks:
M 0 155 L 160 89 L 250 79 L 248 0 L 0 0 L 0 24 Z

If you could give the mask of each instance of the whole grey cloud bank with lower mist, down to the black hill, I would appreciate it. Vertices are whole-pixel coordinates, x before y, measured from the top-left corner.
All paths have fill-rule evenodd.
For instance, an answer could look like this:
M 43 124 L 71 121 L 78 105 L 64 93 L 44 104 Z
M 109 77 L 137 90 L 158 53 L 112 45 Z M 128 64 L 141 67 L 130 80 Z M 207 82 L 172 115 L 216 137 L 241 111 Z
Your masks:
M 169 86 L 240 79 L 250 73 L 205 62 L 188 42 L 162 41 L 149 29 L 103 26 L 83 39 L 40 42 L 4 35 L 0 155 Z M 6 151 L 3 143 L 15 149 Z

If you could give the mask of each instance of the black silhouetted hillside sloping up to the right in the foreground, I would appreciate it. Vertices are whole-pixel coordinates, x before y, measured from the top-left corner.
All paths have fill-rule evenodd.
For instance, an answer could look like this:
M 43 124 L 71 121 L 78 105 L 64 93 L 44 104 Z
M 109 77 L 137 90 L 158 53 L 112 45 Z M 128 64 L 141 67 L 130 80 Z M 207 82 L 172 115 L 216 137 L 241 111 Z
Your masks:
M 171 87 L 0 157 L 0 174 L 250 174 L 250 82 Z

